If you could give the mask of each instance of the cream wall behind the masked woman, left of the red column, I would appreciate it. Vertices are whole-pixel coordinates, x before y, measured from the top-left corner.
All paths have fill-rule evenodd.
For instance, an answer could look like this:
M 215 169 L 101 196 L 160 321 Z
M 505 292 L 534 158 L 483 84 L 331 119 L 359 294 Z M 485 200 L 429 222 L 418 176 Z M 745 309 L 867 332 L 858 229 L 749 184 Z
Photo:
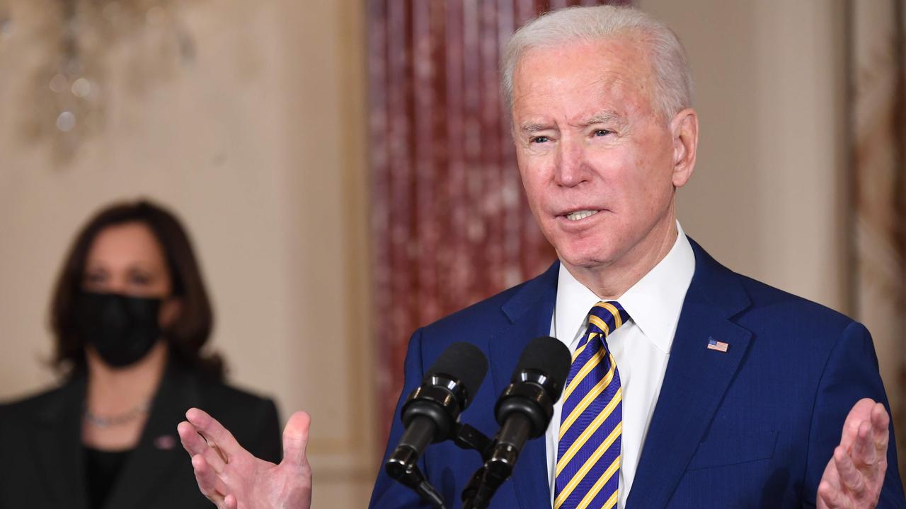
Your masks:
M 363 506 L 380 452 L 362 3 L 179 3 L 194 62 L 137 75 L 160 35 L 112 44 L 108 124 L 62 165 L 22 141 L 28 76 L 45 58 L 34 34 L 56 4 L 12 2 L 14 33 L 0 46 L 0 399 L 53 383 L 46 306 L 77 227 L 112 199 L 155 197 L 194 236 L 230 379 L 274 396 L 284 419 L 312 413 L 315 506 Z M 352 322 L 351 309 L 365 312 Z

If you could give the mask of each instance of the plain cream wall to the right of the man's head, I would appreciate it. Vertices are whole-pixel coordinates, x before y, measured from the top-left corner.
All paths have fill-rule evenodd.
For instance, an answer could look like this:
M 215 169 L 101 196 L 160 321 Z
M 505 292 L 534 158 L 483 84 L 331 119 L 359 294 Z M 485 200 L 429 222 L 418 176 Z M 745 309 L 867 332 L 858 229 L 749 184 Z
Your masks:
M 850 312 L 845 45 L 834 0 L 640 0 L 685 44 L 701 136 L 682 225 L 735 271 Z M 899 348 L 876 341 L 892 406 Z

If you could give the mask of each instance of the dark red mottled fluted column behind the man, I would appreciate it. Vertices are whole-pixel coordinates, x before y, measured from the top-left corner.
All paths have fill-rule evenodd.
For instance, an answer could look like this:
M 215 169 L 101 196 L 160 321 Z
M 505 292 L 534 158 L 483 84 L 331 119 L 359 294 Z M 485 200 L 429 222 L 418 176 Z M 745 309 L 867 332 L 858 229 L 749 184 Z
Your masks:
M 371 228 L 379 417 L 410 334 L 541 273 L 499 95 L 501 48 L 535 15 L 603 0 L 369 0 Z M 466 339 L 466 338 L 464 338 Z

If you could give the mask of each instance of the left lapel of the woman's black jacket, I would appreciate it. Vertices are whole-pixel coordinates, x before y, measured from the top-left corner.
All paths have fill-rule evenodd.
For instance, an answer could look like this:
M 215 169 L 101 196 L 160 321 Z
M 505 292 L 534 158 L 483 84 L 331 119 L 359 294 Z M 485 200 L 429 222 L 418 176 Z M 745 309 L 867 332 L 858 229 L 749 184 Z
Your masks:
M 34 451 L 48 492 L 59 507 L 85 509 L 82 401 L 85 378 L 76 375 L 36 416 Z

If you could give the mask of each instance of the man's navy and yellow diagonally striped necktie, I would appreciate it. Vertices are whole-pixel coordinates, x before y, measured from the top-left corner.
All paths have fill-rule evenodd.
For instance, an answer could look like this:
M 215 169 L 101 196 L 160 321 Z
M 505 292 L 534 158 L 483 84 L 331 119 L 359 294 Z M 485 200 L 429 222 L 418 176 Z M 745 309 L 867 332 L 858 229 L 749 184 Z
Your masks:
M 629 320 L 619 303 L 594 304 L 564 389 L 554 509 L 611 509 L 620 484 L 622 389 L 607 336 Z

